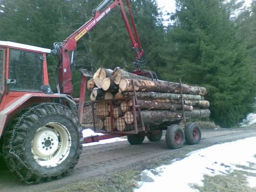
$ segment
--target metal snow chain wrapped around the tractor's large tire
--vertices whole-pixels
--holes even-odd
[[[78,132],[80,133],[80,141],[79,141],[79,146],[78,146],[78,149],[77,149],[77,155],[76,155],[75,161],[73,161],[73,162],[70,164],[70,166],[68,166],[67,168],[65,168],[61,173],[52,174],[52,175],[49,175],[49,176],[47,176],[47,177],[41,177],[41,176],[39,176],[36,172],[34,172],[34,171],[20,158],[20,156],[23,155],[22,152],[20,152],[20,153],[15,153],[15,148],[18,148],[18,146],[22,146],[22,150],[24,150],[24,147],[23,147],[23,146],[24,146],[24,141],[25,141],[25,140],[23,141],[23,144],[19,144],[19,145],[17,145],[17,146],[13,146],[12,144],[13,144],[13,141],[14,141],[14,136],[15,136],[15,134],[17,134],[17,131],[16,131],[16,130],[17,130],[17,128],[18,128],[20,122],[23,121],[23,117],[25,117],[26,115],[28,115],[28,114],[31,113],[31,112],[33,112],[33,113],[35,113],[36,115],[38,115],[39,113],[35,110],[35,109],[37,109],[37,108],[44,108],[44,109],[46,110],[46,112],[47,112],[47,115],[50,115],[51,112],[49,111],[49,108],[47,108],[47,106],[52,106],[52,107],[54,107],[54,109],[55,109],[55,114],[64,116],[63,114],[57,113],[57,112],[58,112],[57,106],[62,107],[62,108],[64,108],[64,112],[65,112],[65,116],[64,116],[64,117],[69,118],[70,120],[72,120],[72,122],[73,122],[73,119],[76,120]],[[6,161],[6,164],[8,165],[8,167],[10,168],[10,170],[11,170],[12,172],[15,172],[15,173],[18,175],[18,177],[19,177],[22,181],[24,181],[26,184],[31,185],[31,184],[43,182],[43,181],[44,181],[43,179],[49,180],[49,179],[51,179],[51,178],[58,178],[58,176],[62,175],[63,173],[66,173],[66,174],[63,174],[63,175],[68,175],[68,174],[70,174],[70,169],[73,168],[73,167],[75,166],[75,164],[78,162],[79,156],[80,156],[80,154],[82,153],[82,143],[83,143],[82,128],[81,128],[80,123],[79,123],[78,120],[77,120],[77,117],[74,115],[73,112],[72,112],[72,118],[70,118],[68,115],[66,115],[66,114],[67,114],[67,110],[70,110],[70,108],[68,108],[68,107],[66,107],[66,106],[62,106],[62,105],[57,104],[57,103],[41,103],[41,104],[36,105],[36,106],[34,106],[34,107],[28,108],[28,110],[26,110],[26,112],[23,113],[23,114],[22,114],[22,112],[24,112],[24,111],[22,111],[22,112],[20,113],[20,114],[22,114],[22,116],[19,116],[18,118],[15,118],[15,119],[10,123],[11,126],[15,123],[15,126],[14,126],[13,129],[12,129],[11,126],[8,128],[8,129],[12,129],[11,131],[8,131],[9,133],[10,133],[10,132],[12,133],[12,135],[11,135],[11,137],[10,137],[10,142],[9,142],[9,144],[6,145],[6,146],[3,145],[3,153],[4,153],[4,155],[6,156],[5,161]],[[36,112],[35,112],[35,111],[36,111]],[[19,114],[19,115],[20,115],[20,114]],[[39,114],[38,117],[42,117],[42,115]],[[17,121],[17,122],[15,122],[15,121]],[[14,123],[13,123],[13,122],[14,122]],[[26,122],[25,122],[25,123],[26,123]],[[35,124],[35,123],[37,123],[37,121],[34,122],[33,124]],[[29,124],[29,126],[32,126],[33,124]],[[8,132],[7,132],[7,133],[8,133]],[[23,134],[22,136],[24,136],[24,134]],[[5,134],[4,140],[6,140],[6,139],[7,139],[7,138],[6,138],[6,134]],[[4,141],[4,144],[5,144],[5,142],[6,142],[6,141]],[[6,152],[6,150],[4,150],[4,149],[9,149],[9,151],[8,151],[9,153]],[[8,159],[8,160],[7,160],[7,159]],[[19,165],[18,163],[15,163],[15,162],[14,162],[14,159],[16,159],[16,160],[20,163],[20,165],[24,166],[24,168],[26,168],[26,169],[29,171],[29,174],[26,174],[26,176],[22,175],[22,174],[19,172],[19,169],[20,169],[19,167],[20,167],[20,165]],[[28,180],[31,178],[32,175],[37,175],[38,179],[37,179],[36,181],[28,181]]]

